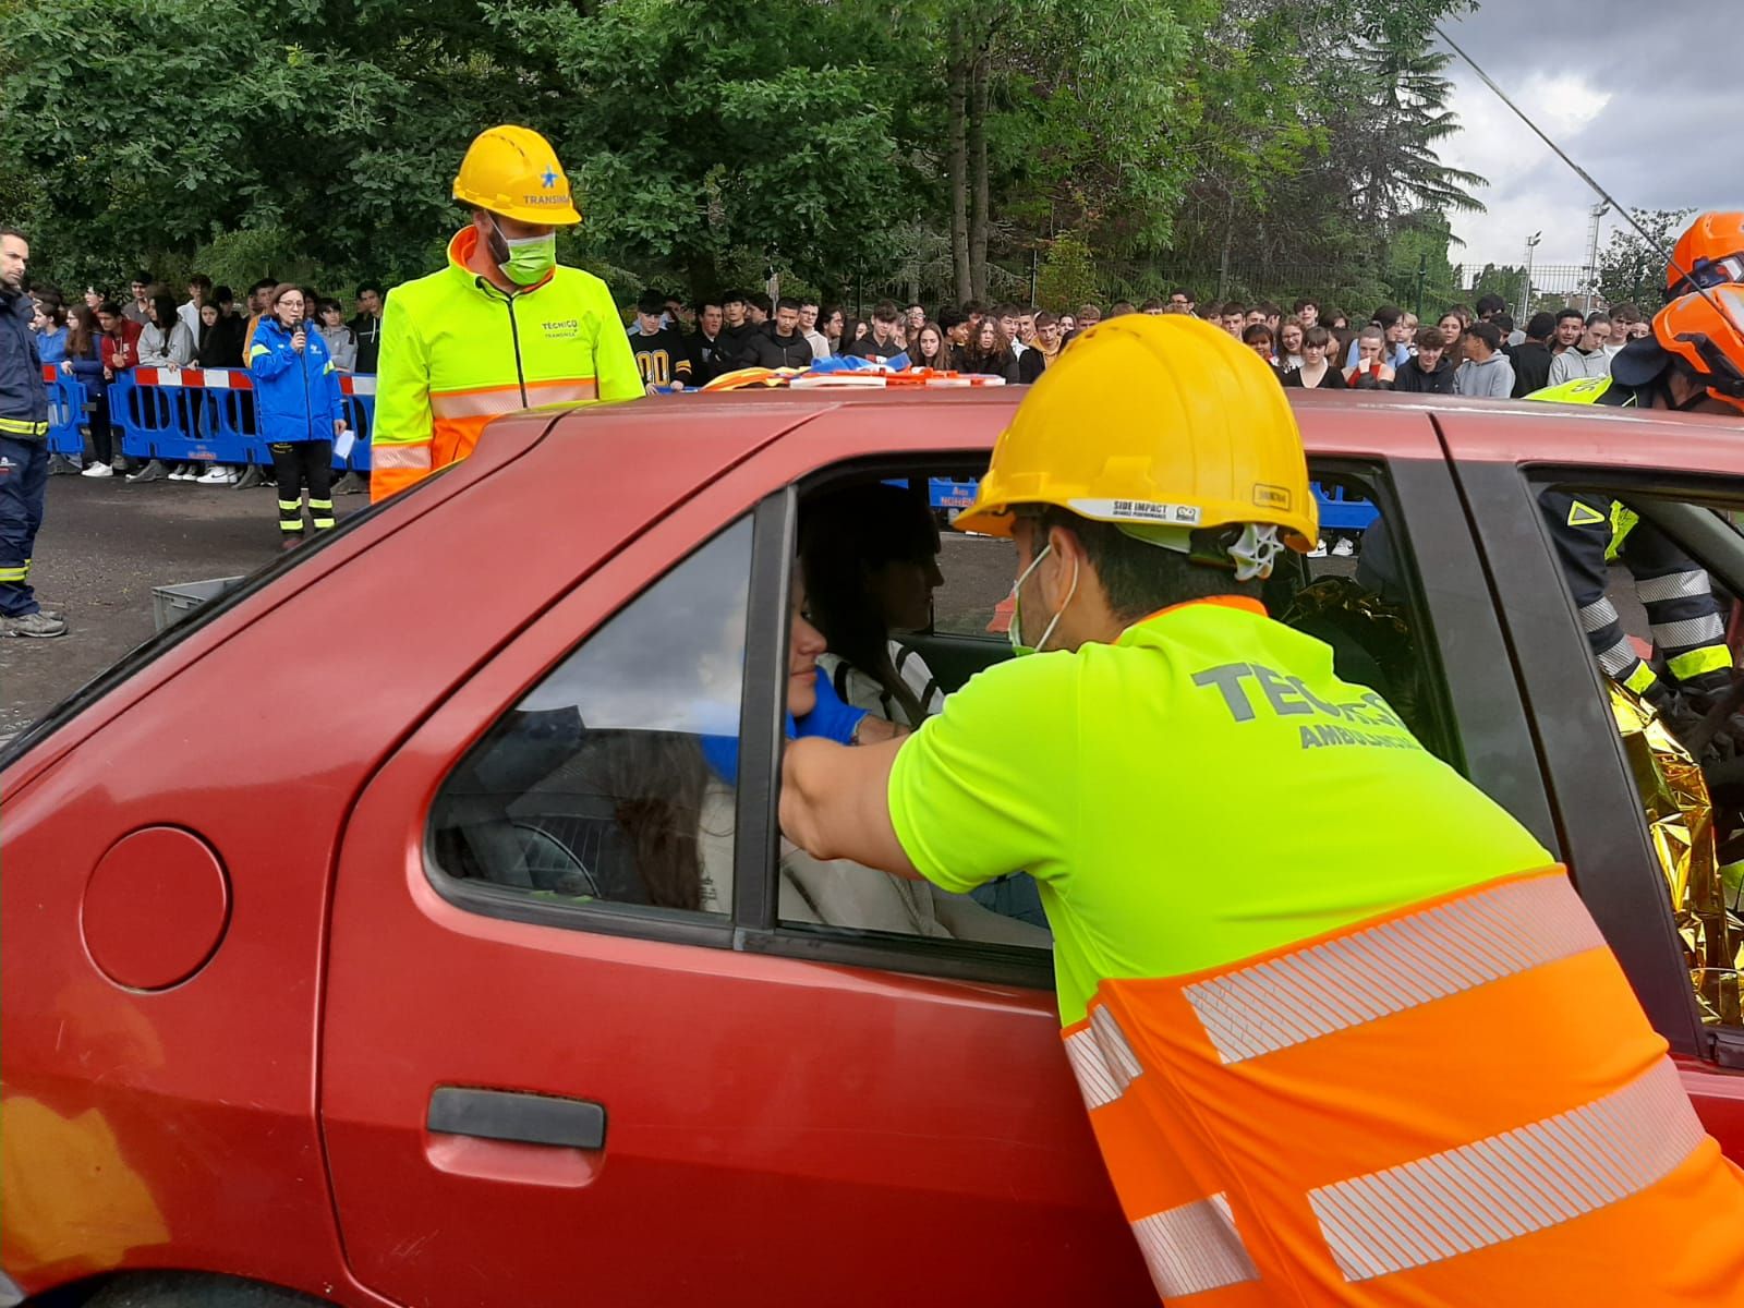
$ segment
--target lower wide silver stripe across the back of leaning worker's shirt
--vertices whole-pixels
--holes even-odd
[[[1345,1280],[1441,1263],[1636,1195],[1704,1139],[1669,1060],[1584,1107],[1308,1191]]]

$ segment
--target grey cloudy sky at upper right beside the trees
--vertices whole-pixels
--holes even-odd
[[[1686,0],[1484,0],[1448,31],[1618,202],[1737,209],[1744,82],[1730,42],[1713,38],[1714,12]],[[1448,73],[1463,131],[1442,160],[1489,180],[1477,192],[1488,211],[1453,218],[1467,242],[1454,263],[1519,263],[1536,230],[1536,263],[1585,263],[1592,192],[1458,58]],[[1707,167],[1692,126],[1714,133]],[[1611,225],[1599,227],[1601,249]]]

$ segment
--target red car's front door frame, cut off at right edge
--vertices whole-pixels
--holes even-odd
[[[1679,544],[1718,589],[1744,595],[1744,541],[1713,514],[1688,513],[1744,509],[1744,441],[1735,424],[1693,419],[1573,408],[1535,419],[1449,412],[1439,424],[1509,630],[1582,898],[1678,1057],[1704,1123],[1732,1158],[1744,1158],[1744,1031],[1700,1018],[1641,795],[1538,511],[1549,487],[1591,488],[1643,514],[1672,509],[1667,530],[1690,534]],[[1618,586],[1632,591],[1627,574],[1613,569]]]

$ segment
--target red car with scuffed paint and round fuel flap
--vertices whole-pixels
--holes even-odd
[[[1535,506],[1622,495],[1744,593],[1711,511],[1744,506],[1741,433],[1294,401],[1407,589],[1402,644],[1341,661],[1568,862],[1744,1158],[1737,977],[1704,1022]],[[1155,1303],[1048,950],[790,912],[774,825],[799,513],[973,476],[1015,403],[506,419],[14,741],[0,1299]],[[947,689],[1008,654],[1008,549],[945,542],[912,644]],[[1334,565],[1296,558],[1273,610]],[[673,851],[703,891],[654,884]]]

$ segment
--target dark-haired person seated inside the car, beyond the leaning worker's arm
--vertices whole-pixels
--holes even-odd
[[[945,696],[921,656],[891,638],[933,621],[938,527],[926,501],[882,483],[806,506],[800,537],[807,619],[828,652],[818,671],[835,696],[886,722],[917,727]]]

